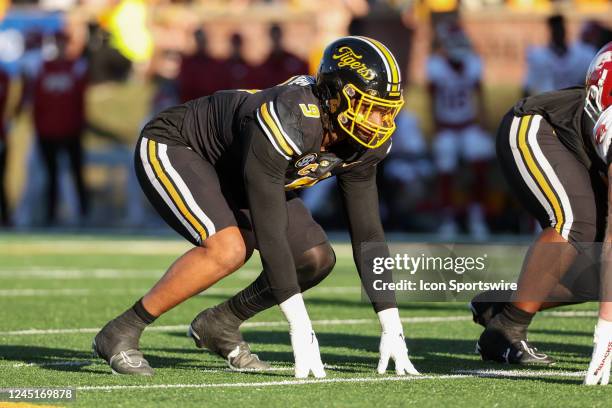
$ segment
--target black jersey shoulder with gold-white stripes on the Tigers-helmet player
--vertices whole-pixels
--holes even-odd
[[[319,102],[306,87],[287,87],[264,102],[256,115],[274,149],[287,160],[312,147],[323,131]]]

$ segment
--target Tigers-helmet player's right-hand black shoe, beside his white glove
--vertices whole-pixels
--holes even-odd
[[[196,347],[208,350],[227,360],[233,370],[269,370],[240,334],[240,323],[226,303],[206,309],[189,325],[187,335]]]

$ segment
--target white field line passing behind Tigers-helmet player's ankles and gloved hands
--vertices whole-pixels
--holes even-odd
[[[431,323],[431,322],[452,322],[470,320],[470,316],[424,316],[424,317],[405,317],[402,320],[404,323]],[[334,319],[334,320],[314,320],[314,326],[334,326],[343,324],[375,324],[378,320],[375,319]],[[279,327],[287,326],[287,322],[279,320],[275,322],[246,322],[241,327]],[[100,328],[81,328],[81,329],[26,329],[2,331],[0,336],[27,336],[34,334],[74,334],[74,333],[97,333]],[[148,327],[147,331],[156,332],[172,332],[187,330],[187,325],[174,326],[152,326]]]

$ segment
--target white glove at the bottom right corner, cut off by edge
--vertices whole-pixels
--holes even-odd
[[[586,385],[606,385],[610,381],[612,363],[612,322],[599,319],[593,335],[593,355],[587,375]]]

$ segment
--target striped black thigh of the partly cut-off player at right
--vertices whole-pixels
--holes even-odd
[[[553,227],[573,244],[595,239],[598,211],[589,172],[542,116],[507,114],[497,157],[512,192],[543,228]]]

